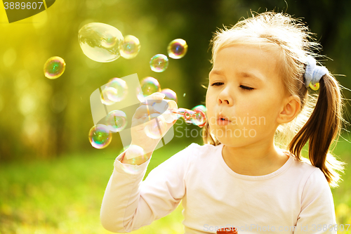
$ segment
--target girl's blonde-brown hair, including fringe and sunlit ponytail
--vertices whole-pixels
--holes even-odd
[[[265,12],[252,15],[237,22],[228,29],[224,27],[214,35],[212,60],[216,60],[218,51],[226,46],[258,45],[261,48],[274,49],[279,56],[279,73],[284,85],[284,93],[300,98],[300,112],[293,121],[278,126],[274,138],[280,147],[293,153],[300,161],[306,161],[300,152],[309,141],[310,164],[319,167],[331,187],[338,186],[344,162],[336,160],[329,148],[340,136],[342,101],[340,84],[332,74],[326,74],[319,82],[319,95],[310,91],[304,84],[305,58],[317,57],[314,49],[318,43],[310,40],[312,33],[299,19],[293,19],[286,13]],[[208,123],[204,126],[204,143],[219,145],[216,136],[211,134]]]

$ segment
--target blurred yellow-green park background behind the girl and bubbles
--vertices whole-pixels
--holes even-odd
[[[151,76],[162,89],[176,91],[178,107],[204,104],[206,89],[201,85],[207,85],[211,70],[213,32],[248,18],[251,10],[275,9],[307,22],[323,46],[321,54],[330,58],[322,63],[350,89],[350,6],[347,0],[57,0],[44,12],[9,24],[0,4],[0,233],[108,233],[98,212],[112,162],[123,147],[114,134],[107,148],[97,150],[88,131],[93,126],[90,95],[111,78]],[[103,22],[138,37],[140,53],[112,63],[90,60],[78,43],[78,31],[88,22]],[[187,41],[187,55],[170,59],[165,72],[152,72],[150,58],[166,54],[176,38]],[[65,73],[54,80],[43,72],[52,56],[66,62]],[[344,89],[343,95],[350,98],[351,92]],[[350,110],[347,103],[345,107]],[[336,154],[348,162],[347,131],[343,138]],[[192,142],[201,143],[201,138],[176,134],[154,153],[148,171]],[[340,188],[332,190],[337,221],[351,223],[347,171],[343,178]],[[180,210],[138,232],[182,233]]]

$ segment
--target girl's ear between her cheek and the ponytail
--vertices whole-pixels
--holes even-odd
[[[287,97],[282,104],[282,110],[277,117],[278,124],[291,122],[300,112],[300,98],[296,95]]]

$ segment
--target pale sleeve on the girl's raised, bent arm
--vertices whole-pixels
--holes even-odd
[[[102,199],[102,226],[129,233],[171,213],[185,195],[185,176],[193,145],[189,145],[143,177],[149,160],[140,165],[122,164],[119,155]]]

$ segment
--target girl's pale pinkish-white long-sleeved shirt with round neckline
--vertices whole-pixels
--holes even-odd
[[[150,171],[147,162],[122,164],[102,200],[102,226],[127,233],[170,214],[183,199],[185,233],[336,233],[333,196],[322,171],[289,155],[264,176],[237,174],[222,156],[223,145],[192,143]]]

